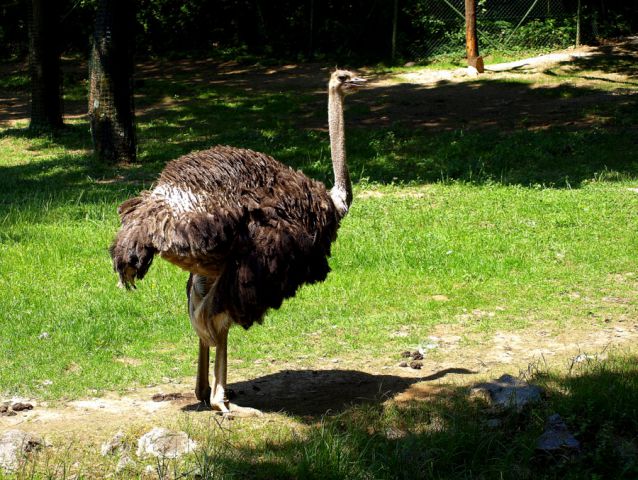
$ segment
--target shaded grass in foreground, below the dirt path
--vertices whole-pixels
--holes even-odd
[[[228,422],[207,417],[198,422],[184,417],[173,426],[198,442],[193,454],[138,461],[115,477],[137,477],[150,463],[160,478],[635,478],[636,360],[629,352],[614,352],[608,359],[578,364],[569,373],[534,365],[526,379],[543,388],[544,398],[520,412],[493,410],[470,396],[468,387],[439,385],[419,400],[379,399],[310,425],[284,418]],[[547,418],[555,413],[580,442],[578,451],[548,454],[536,449]],[[135,437],[127,435],[132,448]],[[56,457],[44,451],[17,478],[71,478],[78,473],[81,478],[102,478],[114,471],[118,460],[92,457],[71,465],[70,453]]]

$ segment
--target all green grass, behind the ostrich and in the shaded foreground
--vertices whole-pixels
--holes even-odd
[[[582,65],[580,73],[603,67],[616,65]],[[514,85],[532,100],[554,95],[557,109],[610,91],[604,81],[563,80],[546,79],[569,95],[544,86],[527,91],[533,85],[516,79],[440,88],[457,95],[478,89],[487,98]],[[231,331],[231,381],[330,358],[393,365],[442,324],[480,338],[539,324],[596,328],[636,315],[633,97],[583,104],[575,116],[588,119],[587,129],[551,121],[535,128],[523,113],[511,128],[357,121],[372,115],[370,98],[408,88],[416,87],[379,87],[350,104],[356,198],[334,245],[333,272],[270,312],[263,326]],[[2,397],[74,399],[193,375],[186,275],[157,261],[137,291],[124,292],[107,254],[117,205],[148,187],[171,158],[216,143],[242,145],[330,182],[327,134],[316,128],[324,122],[322,94],[213,86],[186,76],[147,78],[138,94],[140,163],[129,167],[95,163],[83,120],[51,136],[31,136],[25,125],[0,130]],[[80,98],[81,87],[71,97]],[[405,326],[407,336],[394,335]],[[255,372],[256,361],[269,360],[278,364]],[[502,418],[495,431],[484,424],[491,414],[458,386],[442,386],[426,402],[379,399],[325,418],[181,425],[207,447],[157,470],[199,468],[202,478],[538,478],[537,469],[545,478],[633,478],[636,378],[629,354],[568,374],[539,369],[533,379],[547,400]],[[554,411],[585,444],[575,460],[548,463],[534,452]],[[41,457],[37,471],[18,477],[70,475],[62,466],[100,477],[115,468],[110,461],[72,468],[75,459],[63,454]],[[131,467],[121,478],[141,470]]]

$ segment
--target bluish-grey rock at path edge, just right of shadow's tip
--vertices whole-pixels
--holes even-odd
[[[481,398],[497,409],[515,408],[520,412],[527,404],[539,401],[541,392],[536,385],[505,374],[498,380],[475,385],[470,397]]]

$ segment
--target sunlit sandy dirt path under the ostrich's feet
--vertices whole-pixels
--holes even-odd
[[[598,321],[596,321],[598,322]],[[398,335],[401,332],[397,332]],[[426,349],[423,368],[399,366],[400,353],[373,360],[362,368],[359,360],[317,363],[316,369],[256,367],[254,377],[241,377],[231,370],[234,402],[258,408],[273,421],[295,415],[316,421],[326,412],[339,412],[360,402],[405,401],[431,395],[431,386],[472,385],[503,373],[519,375],[533,368],[558,368],[590,358],[604,359],[610,351],[632,350],[638,340],[638,319],[614,323],[591,323],[578,330],[552,332],[534,329],[496,332],[488,338],[462,337],[461,326],[441,326]],[[181,415],[204,420],[212,413],[202,410],[193,392],[193,378],[140,388],[127,395],[114,393],[100,398],[46,403],[30,399],[32,410],[0,417],[0,431],[18,428],[52,438],[82,438],[99,444],[118,430],[142,431],[172,423]],[[168,394],[165,401],[155,401]]]

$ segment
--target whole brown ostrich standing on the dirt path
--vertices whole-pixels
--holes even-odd
[[[195,394],[213,410],[226,414],[231,408],[230,326],[261,323],[269,308],[279,308],[302,284],[324,280],[330,270],[330,245],[352,202],[343,99],[364,81],[336,70],[328,83],[330,193],[264,153],[216,146],[169,162],[152,190],[118,208],[121,228],[109,251],[120,286],[134,288],[156,254],[190,272],[188,312],[199,337]]]

